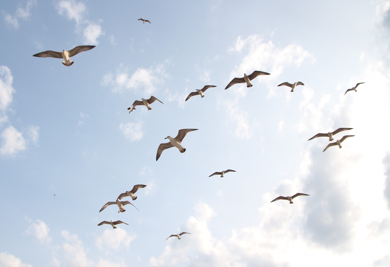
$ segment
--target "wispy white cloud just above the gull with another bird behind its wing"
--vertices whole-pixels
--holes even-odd
[[[157,90],[158,85],[163,84],[165,79],[170,77],[165,67],[168,62],[155,64],[147,69],[138,68],[130,77],[128,70],[121,64],[117,69],[115,77],[112,73],[107,73],[103,77],[101,84],[112,86],[115,92],[128,89],[145,95],[152,94]]]

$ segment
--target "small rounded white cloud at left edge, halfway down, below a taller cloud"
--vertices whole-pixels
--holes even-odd
[[[19,151],[26,149],[26,140],[22,134],[14,128],[14,126],[8,126],[2,132],[3,138],[2,146],[0,147],[0,153],[2,155],[16,155]]]

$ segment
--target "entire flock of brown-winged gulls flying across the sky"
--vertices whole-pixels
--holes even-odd
[[[143,18],[140,18],[138,20],[143,21],[143,23],[145,23],[145,22],[151,23],[149,20],[145,20]],[[94,47],[95,47],[94,45],[80,45],[80,46],[74,47],[73,49],[71,49],[69,51],[66,51],[65,49],[62,52],[56,52],[56,51],[52,51],[52,50],[47,50],[47,51],[44,51],[44,52],[36,53],[33,56],[34,57],[53,57],[53,58],[58,58],[58,59],[64,59],[64,61],[62,61],[62,64],[64,64],[65,66],[69,67],[69,66],[72,66],[73,63],[74,63],[70,59],[71,57],[77,55],[78,53],[81,53],[81,52],[84,52],[84,51],[89,51],[89,50],[91,50]],[[258,71],[258,70],[253,71],[252,74],[250,74],[250,75],[246,75],[246,73],[244,73],[244,77],[233,78],[229,82],[229,84],[225,87],[225,90],[228,89],[229,87],[231,87],[234,84],[240,84],[240,83],[246,83],[246,87],[252,87],[253,85],[251,84],[251,81],[254,78],[256,78],[256,77],[258,77],[260,75],[270,75],[270,73],[264,72],[264,71]],[[348,89],[344,93],[344,95],[348,91],[354,90],[356,92],[356,87],[358,87],[358,85],[360,85],[360,84],[364,84],[364,82],[358,83],[353,88]],[[284,82],[282,84],[279,84],[278,86],[288,86],[288,87],[291,87],[291,92],[294,92],[294,89],[298,85],[304,85],[304,84],[303,84],[303,82],[295,82],[293,84],[290,84],[289,82]],[[207,89],[212,88],[212,87],[216,87],[216,85],[205,85],[202,89],[195,89],[196,91],[195,92],[191,92],[187,96],[185,101],[189,100],[192,96],[197,96],[197,95],[200,95],[200,97],[203,98],[204,97],[204,92]],[[144,105],[144,106],[147,107],[148,110],[151,110],[150,105],[154,101],[159,101],[160,103],[164,104],[162,101],[160,101],[159,99],[157,99],[154,96],[151,96],[149,99],[141,98],[141,101],[135,100],[133,105],[131,105],[131,107],[128,108],[129,113],[131,111],[135,110],[135,107],[138,106],[138,105]],[[314,135],[312,138],[310,138],[308,140],[312,140],[312,139],[317,138],[317,137],[329,137],[329,141],[333,141],[333,135],[335,135],[335,134],[337,134],[339,132],[342,132],[342,131],[352,130],[352,129],[353,128],[338,128],[337,130],[335,130],[333,132],[317,133],[316,135]],[[158,146],[157,154],[156,154],[156,161],[160,158],[161,153],[164,150],[168,149],[168,148],[176,147],[180,151],[180,153],[184,153],[186,151],[186,149],[181,145],[181,142],[183,141],[183,139],[184,139],[184,137],[186,136],[187,133],[192,132],[192,131],[196,131],[196,130],[198,130],[198,129],[181,129],[181,130],[179,130],[179,132],[177,133],[175,138],[173,138],[171,136],[165,137],[165,139],[168,139],[169,142],[161,143],[160,146]],[[328,144],[328,146],[326,146],[326,148],[323,150],[323,152],[325,150],[327,150],[331,146],[336,146],[337,145],[337,146],[339,146],[339,148],[341,148],[341,142],[343,142],[346,138],[353,137],[353,136],[355,136],[355,135],[344,135],[340,140],[336,140],[336,142]],[[209,177],[211,177],[213,175],[221,175],[221,177],[223,177],[224,174],[229,173],[229,172],[236,172],[236,171],[234,171],[232,169],[227,169],[226,171],[215,172],[215,173],[211,174]],[[103,211],[106,207],[108,207],[110,205],[117,205],[118,208],[119,208],[118,213],[119,212],[121,212],[121,213],[125,212],[126,211],[124,209],[125,205],[128,205],[128,204],[130,204],[132,206],[134,206],[134,205],[130,201],[121,201],[121,199],[129,196],[129,197],[131,197],[132,200],[136,200],[137,196],[135,196],[135,193],[137,192],[138,189],[144,188],[144,187],[146,187],[146,185],[134,185],[133,189],[131,189],[130,191],[126,191],[126,192],[120,194],[117,197],[116,201],[109,201],[109,202],[107,202],[99,210],[99,212]],[[54,196],[55,196],[55,194],[54,194]],[[284,199],[284,200],[288,200],[290,204],[293,204],[293,199],[296,198],[297,196],[309,196],[309,195],[308,194],[303,194],[303,193],[297,193],[294,196],[287,196],[287,197],[279,196],[279,197],[275,198],[274,200],[272,200],[271,202],[274,202],[274,201],[277,201],[277,200],[280,200],[280,199]],[[134,207],[138,210],[138,208],[136,206],[134,206]],[[116,227],[117,224],[127,224],[127,223],[123,222],[123,221],[119,221],[119,220],[118,221],[110,220],[110,221],[102,221],[102,222],[100,222],[97,225],[101,226],[103,224],[110,224],[115,229],[115,228],[117,228]],[[167,239],[169,239],[170,237],[177,237],[178,239],[181,239],[181,235],[183,235],[183,234],[190,234],[190,233],[182,232],[182,233],[180,233],[178,235],[170,235]]]

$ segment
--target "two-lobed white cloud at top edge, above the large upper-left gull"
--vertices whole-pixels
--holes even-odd
[[[83,34],[84,41],[96,45],[97,38],[104,34],[101,26],[85,18],[87,7],[75,0],[61,0],[56,5],[58,14],[66,16],[68,20],[76,21],[76,31]]]

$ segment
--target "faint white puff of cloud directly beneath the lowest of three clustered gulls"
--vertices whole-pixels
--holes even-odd
[[[116,229],[104,230],[103,233],[96,237],[95,245],[99,249],[109,248],[115,250],[118,250],[122,246],[129,247],[130,242],[135,239],[135,235],[129,235],[126,230],[120,228],[122,225],[126,226],[126,224],[119,224],[119,227]],[[105,226],[112,228],[111,225]]]

